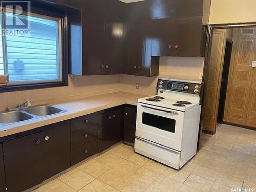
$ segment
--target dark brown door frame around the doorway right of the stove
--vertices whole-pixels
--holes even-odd
[[[203,83],[203,92],[201,95],[201,103],[202,103],[202,109],[201,109],[201,119],[200,119],[200,130],[204,133],[214,135],[216,133],[216,130],[214,132],[204,131],[203,130],[203,107],[204,107],[204,92],[205,88],[207,87],[207,80],[208,80],[208,74],[207,71],[209,69],[209,63],[210,63],[210,54],[211,54],[211,43],[212,43],[212,35],[214,33],[214,29],[227,29],[227,28],[245,28],[245,27],[256,27],[256,22],[250,22],[250,23],[229,23],[229,24],[212,24],[212,25],[204,25],[203,27],[206,28],[206,43],[205,43],[205,55],[204,55],[204,68],[203,68],[203,77],[202,77],[202,83]],[[227,122],[225,122],[228,124]],[[237,124],[231,124],[234,126],[238,126]],[[239,125],[241,127],[241,125]],[[253,127],[244,126],[246,129],[253,129]],[[200,131],[200,132],[201,132]],[[199,132],[199,134],[200,134]]]

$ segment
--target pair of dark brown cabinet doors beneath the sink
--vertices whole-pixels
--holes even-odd
[[[8,191],[23,191],[70,167],[70,124],[3,143]]]

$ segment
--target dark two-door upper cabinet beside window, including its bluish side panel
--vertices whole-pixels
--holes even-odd
[[[121,74],[123,23],[97,13],[70,12],[70,63],[74,75]]]

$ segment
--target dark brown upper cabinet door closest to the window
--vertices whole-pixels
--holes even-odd
[[[104,16],[82,11],[82,69],[83,75],[104,74]]]

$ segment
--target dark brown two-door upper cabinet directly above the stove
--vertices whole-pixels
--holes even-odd
[[[202,16],[156,19],[151,21],[155,39],[152,55],[200,57],[202,48]]]

